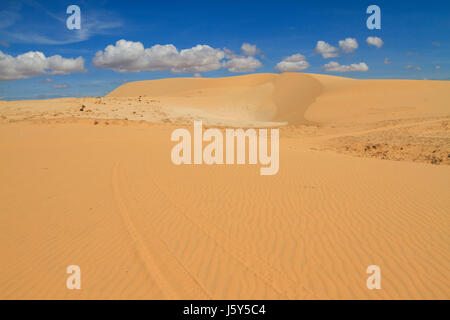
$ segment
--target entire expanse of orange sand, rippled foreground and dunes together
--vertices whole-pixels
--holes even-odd
[[[448,299],[449,86],[252,75],[1,102],[0,297]],[[279,173],[173,165],[197,117],[288,122]]]

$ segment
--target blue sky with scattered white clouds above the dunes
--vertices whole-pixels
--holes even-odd
[[[67,27],[70,5],[80,29]],[[367,27],[370,5],[381,29]],[[0,99],[285,71],[450,80],[449,13],[448,0],[2,0]]]

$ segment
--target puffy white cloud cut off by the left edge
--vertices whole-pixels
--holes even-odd
[[[69,74],[84,71],[84,59],[46,57],[42,52],[29,51],[10,56],[0,51],[0,81],[26,79],[41,74]]]

